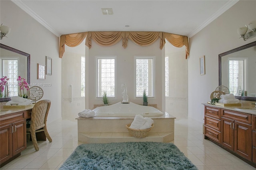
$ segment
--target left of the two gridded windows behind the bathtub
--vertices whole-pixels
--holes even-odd
[[[115,97],[116,57],[97,57],[97,97]]]

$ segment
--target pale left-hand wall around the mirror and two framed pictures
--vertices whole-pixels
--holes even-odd
[[[48,123],[61,118],[61,59],[59,38],[39,24],[11,1],[0,1],[0,21],[11,28],[8,38],[0,43],[30,54],[30,83],[51,83],[43,86],[44,97],[52,101]],[[45,65],[46,57],[52,58],[52,75],[37,79],[37,63]]]

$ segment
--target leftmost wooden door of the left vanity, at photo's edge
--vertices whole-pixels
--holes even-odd
[[[0,163],[12,158],[12,124],[0,127]]]

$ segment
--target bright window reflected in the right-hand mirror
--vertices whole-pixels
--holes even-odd
[[[229,59],[229,91],[241,95],[244,90],[244,59]]]

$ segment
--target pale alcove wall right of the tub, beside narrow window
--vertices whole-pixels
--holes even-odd
[[[170,45],[166,43],[165,46]],[[167,47],[166,47],[167,48]],[[167,50],[166,50],[167,51]],[[186,48],[172,47],[169,57],[169,97],[166,97],[166,112],[178,119],[188,118],[188,60]]]

